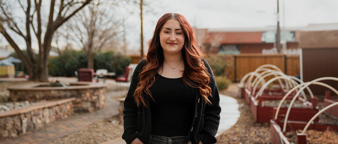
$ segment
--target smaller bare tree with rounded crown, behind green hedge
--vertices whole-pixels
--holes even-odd
[[[82,48],[88,57],[88,68],[94,69],[95,53],[114,43],[119,24],[108,16],[107,3],[95,1],[77,13],[67,24],[70,37]]]

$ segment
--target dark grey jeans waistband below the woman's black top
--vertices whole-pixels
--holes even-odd
[[[162,137],[150,135],[150,144],[185,144],[187,136]]]

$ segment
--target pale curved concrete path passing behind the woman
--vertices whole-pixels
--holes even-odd
[[[225,132],[227,129],[231,128],[238,120],[240,116],[240,111],[238,110],[238,103],[235,98],[226,95],[219,95],[219,105],[222,108],[221,119],[218,127],[216,137]],[[116,138],[101,144],[126,144],[122,138]]]

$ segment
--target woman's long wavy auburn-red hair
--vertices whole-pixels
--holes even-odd
[[[185,84],[198,88],[199,93],[203,96],[207,104],[211,104],[208,99],[211,95],[211,88],[208,86],[210,81],[210,74],[204,66],[201,53],[197,45],[197,40],[194,35],[194,30],[188,23],[185,17],[178,13],[164,14],[156,24],[152,39],[149,41],[148,53],[145,57],[146,64],[140,73],[140,82],[134,92],[134,98],[139,106],[141,103],[146,105],[144,95],[148,94],[151,98],[149,88],[155,82],[155,75],[160,68],[163,67],[164,55],[163,48],[160,43],[160,31],[165,22],[169,19],[176,19],[179,21],[184,34],[185,42],[182,49],[182,56],[184,60],[183,81]]]

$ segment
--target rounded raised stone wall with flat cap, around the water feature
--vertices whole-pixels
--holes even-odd
[[[73,86],[69,88],[8,88],[10,101],[37,102],[75,97],[73,102],[76,113],[92,112],[104,107],[105,85]]]

